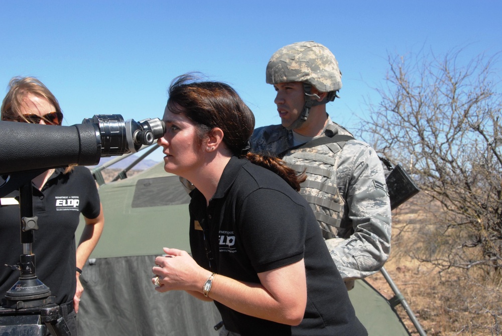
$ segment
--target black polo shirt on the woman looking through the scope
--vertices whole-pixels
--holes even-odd
[[[195,189],[190,202],[190,247],[196,262],[230,278],[260,283],[257,273],[302,258],[307,307],[291,327],[214,302],[225,327],[242,335],[366,335],[305,199],[275,173],[232,157],[206,207]]]

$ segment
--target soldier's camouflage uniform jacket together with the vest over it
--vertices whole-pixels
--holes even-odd
[[[330,119],[326,128],[351,136]],[[281,125],[256,129],[250,142],[254,153],[287,151],[283,160],[290,167],[306,169],[300,193],[314,210],[344,280],[380,270],[390,253],[391,206],[382,164],[368,144],[349,140],[291,150],[293,133]]]

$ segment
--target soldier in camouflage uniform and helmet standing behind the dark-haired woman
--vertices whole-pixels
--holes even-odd
[[[379,271],[390,253],[391,206],[380,159],[353,138],[297,148],[319,137],[351,136],[326,113],[342,83],[338,62],[325,46],[311,41],[279,49],[268,63],[267,83],[277,91],[281,125],[256,129],[252,151],[305,171],[301,193],[350,289],[351,280]]]

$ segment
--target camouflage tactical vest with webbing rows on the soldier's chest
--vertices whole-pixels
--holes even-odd
[[[348,135],[333,135],[327,129],[323,137],[288,150],[283,156],[289,167],[307,177],[300,193],[314,211],[324,239],[337,238],[341,229],[345,199],[337,185],[336,167],[340,151],[352,139]],[[348,229],[341,230],[344,236]]]

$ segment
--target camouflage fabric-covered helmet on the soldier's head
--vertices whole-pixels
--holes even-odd
[[[267,83],[304,82],[321,92],[342,87],[342,73],[328,48],[314,41],[297,42],[282,47],[267,65]]]

